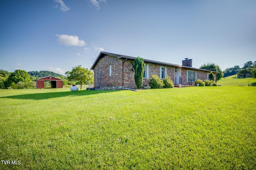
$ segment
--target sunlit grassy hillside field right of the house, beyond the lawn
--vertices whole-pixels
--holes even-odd
[[[222,86],[248,86],[256,83],[256,78],[235,78],[237,75],[228,76],[220,79],[217,84]]]

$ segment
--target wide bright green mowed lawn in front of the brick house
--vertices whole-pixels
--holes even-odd
[[[0,169],[255,169],[256,87],[0,90]]]

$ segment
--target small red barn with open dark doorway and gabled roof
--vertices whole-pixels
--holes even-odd
[[[62,88],[62,79],[53,76],[38,78],[36,80],[36,88],[44,88],[44,82],[50,81],[52,88]]]

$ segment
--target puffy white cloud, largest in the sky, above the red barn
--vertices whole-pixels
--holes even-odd
[[[81,39],[79,40],[79,37],[76,35],[56,35],[57,37],[59,37],[58,41],[61,44],[64,44],[66,46],[78,46],[78,47],[82,47],[84,45],[86,45],[86,43]]]

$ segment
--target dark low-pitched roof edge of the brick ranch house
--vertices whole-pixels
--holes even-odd
[[[102,59],[103,57],[105,57],[106,55],[112,55],[112,56],[118,57],[118,59],[127,59],[127,60],[131,60],[131,61],[134,61],[136,59],[136,57],[130,57],[130,56],[126,56],[126,55],[107,53],[107,52],[100,52],[100,54],[98,55],[96,61],[92,64],[92,67],[90,68],[90,70],[94,70],[94,67],[99,62],[99,60]],[[148,60],[148,59],[144,59],[144,63],[159,64],[159,65],[164,65],[164,66],[172,66],[174,68],[186,68],[186,69],[190,69],[190,70],[198,70],[198,71],[207,71],[207,72],[218,73],[216,71],[210,71],[210,70],[205,70],[205,69],[200,69],[200,68],[182,66],[182,65],[177,65],[177,64],[164,63],[164,62],[153,61],[153,60]]]

